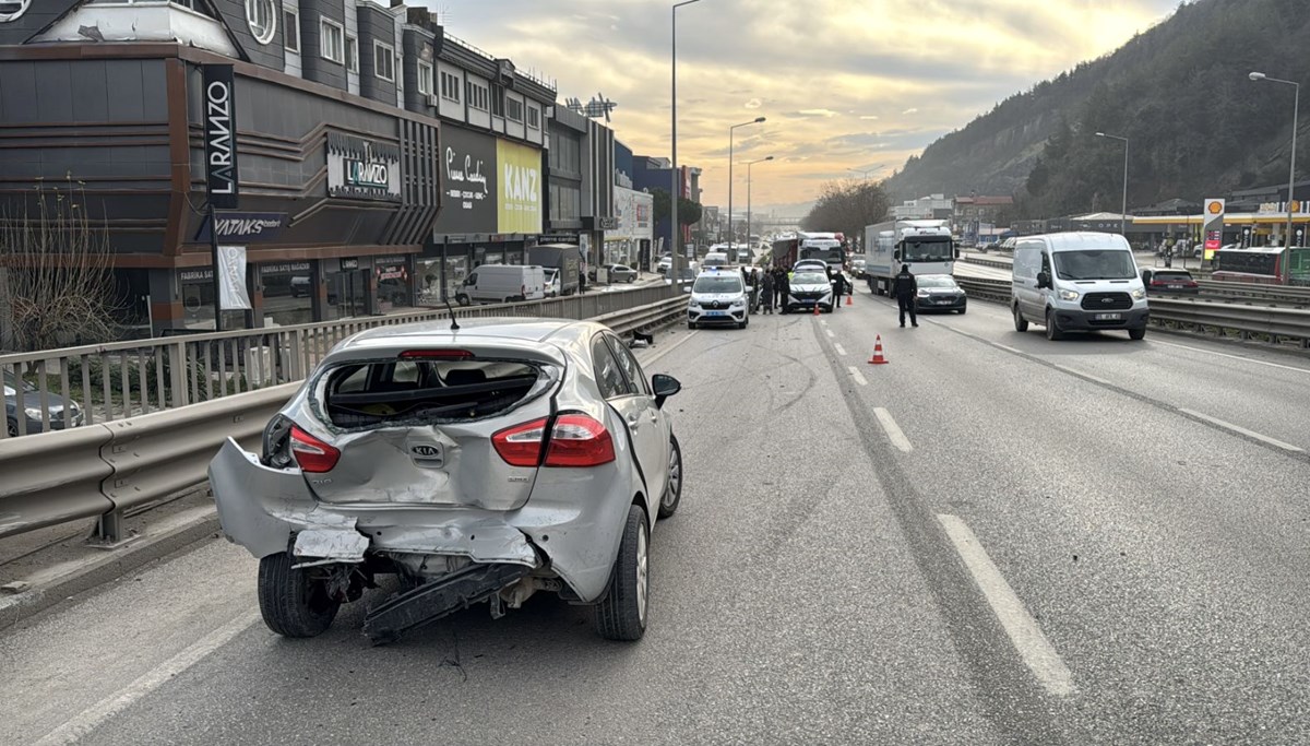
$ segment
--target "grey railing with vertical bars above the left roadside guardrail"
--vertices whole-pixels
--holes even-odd
[[[456,307],[457,317],[595,319],[675,296],[659,283],[527,303]],[[35,387],[8,437],[114,422],[303,379],[337,342],[375,326],[447,319],[445,309],[234,332],[208,332],[0,355],[0,374]],[[10,379],[12,380],[12,379]],[[35,406],[33,401],[35,400]],[[69,406],[75,405],[75,406]]]

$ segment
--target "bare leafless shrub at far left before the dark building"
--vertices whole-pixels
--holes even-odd
[[[39,181],[0,214],[8,316],[21,350],[114,337],[109,231],[93,224],[85,197],[84,184],[71,176],[54,186]]]

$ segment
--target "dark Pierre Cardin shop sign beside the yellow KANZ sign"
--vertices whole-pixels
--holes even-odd
[[[441,127],[441,212],[435,233],[495,232],[495,138]]]

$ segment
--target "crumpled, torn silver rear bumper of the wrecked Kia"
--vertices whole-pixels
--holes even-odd
[[[569,469],[561,469],[567,472]],[[593,475],[607,479],[605,475]],[[558,479],[567,479],[563,473]],[[609,475],[609,479],[616,479]],[[314,553],[360,561],[368,553],[419,553],[468,557],[478,564],[514,564],[550,569],[578,599],[604,594],[629,501],[608,500],[613,490],[559,489],[567,500],[537,496],[511,511],[456,506],[355,503],[329,505],[313,498],[299,469],[274,469],[231,438],[210,463],[210,484],[219,522],[229,540],[255,557],[293,547],[309,532]],[[565,485],[566,486],[566,485]],[[588,498],[587,496],[599,496]]]

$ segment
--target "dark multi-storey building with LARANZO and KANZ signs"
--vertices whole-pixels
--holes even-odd
[[[73,186],[107,235],[128,323],[214,324],[206,66],[232,69],[240,194],[217,233],[245,249],[252,305],[225,325],[435,302],[473,264],[521,261],[541,233],[553,87],[423,10],[371,0],[0,10],[0,203],[20,215],[37,185]]]

